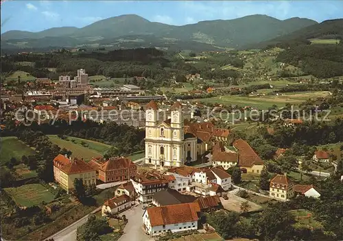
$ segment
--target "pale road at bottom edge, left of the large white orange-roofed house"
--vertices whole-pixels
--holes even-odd
[[[143,225],[143,212],[142,205],[137,205],[130,210],[122,212],[120,215],[125,214],[128,218],[128,223],[124,227],[123,236],[119,238],[119,241],[150,241],[154,240],[150,236],[147,236],[142,228]]]

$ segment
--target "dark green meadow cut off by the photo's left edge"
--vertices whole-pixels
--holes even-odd
[[[16,160],[21,160],[23,155],[36,155],[36,151],[27,147],[14,136],[1,138],[1,165],[10,161],[12,157],[16,158]]]

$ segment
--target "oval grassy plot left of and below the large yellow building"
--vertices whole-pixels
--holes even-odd
[[[39,205],[42,201],[49,203],[54,200],[54,194],[38,183],[27,184],[18,188],[5,188],[5,192],[23,207],[32,207],[33,205]]]

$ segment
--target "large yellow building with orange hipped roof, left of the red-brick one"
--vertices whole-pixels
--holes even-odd
[[[58,154],[54,158],[54,178],[69,193],[74,188],[74,180],[82,179],[84,185],[96,184],[95,170],[83,160],[70,160]]]

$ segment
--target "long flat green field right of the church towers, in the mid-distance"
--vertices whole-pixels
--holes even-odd
[[[243,97],[237,95],[223,95],[221,97],[212,97],[206,99],[195,99],[194,101],[201,101],[204,103],[221,103],[224,105],[241,105],[251,106],[259,110],[268,110],[268,107],[277,105],[278,107],[285,106],[286,103],[298,105],[303,103],[307,99],[326,97],[328,92],[297,92],[297,93],[285,93],[284,95],[265,95],[263,97]]]

